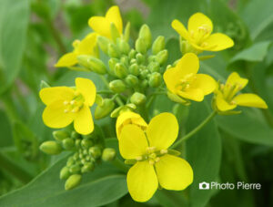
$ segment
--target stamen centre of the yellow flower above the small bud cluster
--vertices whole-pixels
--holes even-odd
[[[72,99],[64,101],[64,105],[66,106],[64,112],[76,113],[83,108],[84,102],[85,98],[83,97],[83,95],[80,94],[78,91],[75,91],[74,97]]]

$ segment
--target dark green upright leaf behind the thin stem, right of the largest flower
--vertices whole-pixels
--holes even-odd
[[[196,128],[201,121],[207,118],[209,114],[208,104],[206,102],[193,103],[189,114],[187,131]],[[217,181],[221,163],[221,139],[215,120],[208,122],[194,137],[187,140],[186,146],[186,160],[194,171],[194,181],[189,190],[190,206],[206,206],[214,191],[199,190],[199,183]]]

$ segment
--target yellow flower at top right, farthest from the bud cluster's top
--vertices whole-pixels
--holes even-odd
[[[215,33],[211,35],[213,24],[211,20],[202,13],[196,13],[190,16],[186,27],[175,19],[172,22],[172,27],[177,33],[198,50],[219,51],[233,47],[233,40],[222,34]]]

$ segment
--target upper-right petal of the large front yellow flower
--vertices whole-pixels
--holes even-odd
[[[177,118],[171,113],[161,113],[151,119],[147,126],[147,139],[150,147],[165,150],[171,146],[178,135]]]

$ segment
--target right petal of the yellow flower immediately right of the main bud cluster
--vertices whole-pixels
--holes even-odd
[[[215,90],[217,84],[214,78],[206,74],[197,74],[196,78],[191,87],[202,89],[204,95],[210,94]]]

